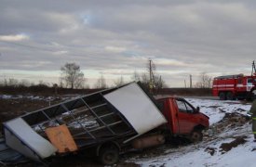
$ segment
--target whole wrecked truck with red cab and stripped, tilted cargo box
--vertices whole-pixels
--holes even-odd
[[[200,141],[208,127],[209,117],[185,99],[155,100],[140,83],[128,83],[4,122],[0,162],[25,157],[44,163],[83,151],[114,164],[120,151],[153,147],[168,137]]]

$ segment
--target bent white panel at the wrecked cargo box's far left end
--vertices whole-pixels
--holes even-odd
[[[40,159],[45,159],[57,151],[57,148],[47,139],[36,134],[21,118],[5,122],[5,132],[8,147],[35,161],[39,161],[38,156]]]

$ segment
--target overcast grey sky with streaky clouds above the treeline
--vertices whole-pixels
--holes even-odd
[[[146,70],[171,87],[250,74],[255,0],[0,0],[0,79],[59,81],[66,62],[93,84]]]

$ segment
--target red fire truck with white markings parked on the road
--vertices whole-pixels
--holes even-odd
[[[255,96],[256,76],[243,74],[215,77],[212,84],[212,95],[221,100],[245,99]]]

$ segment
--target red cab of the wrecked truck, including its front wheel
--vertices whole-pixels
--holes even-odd
[[[181,97],[157,99],[158,106],[168,120],[165,129],[170,135],[185,135],[191,141],[201,141],[202,130],[209,128],[209,117]]]

